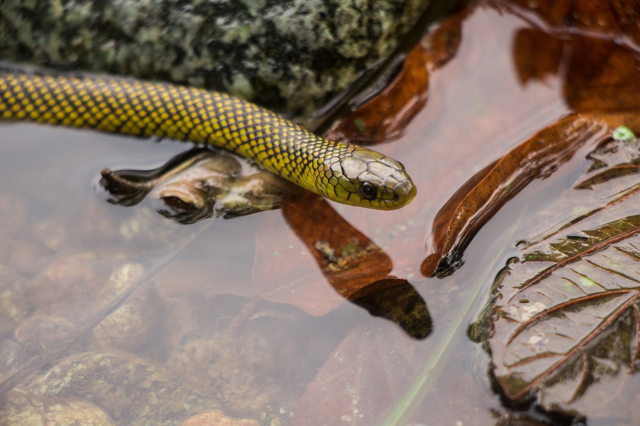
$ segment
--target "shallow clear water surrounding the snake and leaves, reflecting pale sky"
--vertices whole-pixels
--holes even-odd
[[[99,185],[102,169],[153,169],[188,145],[2,123],[0,272],[6,277],[3,303],[13,314],[3,314],[0,372],[20,369],[121,294],[128,281],[109,281],[114,271],[122,273],[127,265],[146,271],[163,265],[134,293],[129,314],[122,314],[119,322],[107,319],[63,353],[56,361],[63,367],[49,376],[42,376],[46,369],[35,372],[24,388],[47,397],[90,400],[116,424],[150,420],[179,425],[199,411],[220,409],[227,416],[271,426],[340,424],[315,423],[309,408],[314,401],[319,404],[314,398],[323,392],[330,400],[340,391],[344,395],[325,401],[323,410],[342,413],[348,407],[339,417],[341,424],[374,425],[388,418],[428,365],[408,424],[502,421],[500,416],[517,407],[505,406],[493,392],[487,375],[490,359],[481,345],[468,339],[467,326],[486,303],[498,271],[518,255],[515,243],[529,238],[527,230],[540,220],[541,206],[560,197],[563,188],[549,180],[533,181],[477,233],[463,265],[452,275],[424,278],[420,263],[433,218],[447,199],[476,172],[570,112],[561,79],[548,76],[520,84],[513,43],[517,31],[527,27],[510,13],[477,7],[463,21],[455,57],[430,73],[426,106],[401,137],[376,146],[402,162],[412,176],[418,195],[409,206],[374,211],[330,203],[388,255],[390,275],[407,278],[420,294],[433,325],[426,339],[413,339],[387,319],[335,298],[282,210],[180,225],[157,214],[148,200],[132,207],[106,201],[108,195]],[[579,176],[568,171],[555,178],[571,185]],[[271,252],[285,259],[277,267],[269,260]],[[291,294],[267,291],[278,285],[291,286],[291,293],[306,289],[330,301],[310,308]],[[240,337],[230,339],[228,327],[253,298],[263,300]],[[54,318],[68,324],[44,331],[36,326],[37,332],[31,333],[24,326],[29,320],[51,324]],[[16,331],[20,328],[22,334]],[[31,342],[34,339],[42,344]],[[189,402],[168,404],[163,411],[159,407],[175,400],[175,393],[151,398],[143,391],[148,386],[141,384],[146,376],[138,379],[131,373],[136,379],[116,383],[120,376],[105,379],[109,370],[100,376],[93,367],[74,370],[76,376],[66,388],[53,390],[46,384],[60,372],[67,374],[69,365],[100,365],[91,358],[99,353],[130,364],[141,358],[141,370],[166,369],[166,377],[176,379],[163,383],[189,395]],[[316,378],[312,383],[319,370],[324,382],[318,384]],[[91,383],[100,380],[110,387],[92,390]],[[143,406],[152,408],[145,413]],[[632,416],[605,410],[602,416],[589,413],[588,424],[623,424]],[[549,424],[531,422],[526,424]]]

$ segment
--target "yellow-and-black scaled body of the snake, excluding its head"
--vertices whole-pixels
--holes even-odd
[[[0,117],[208,143],[332,199],[330,162],[359,148],[224,93],[117,77],[0,70]]]

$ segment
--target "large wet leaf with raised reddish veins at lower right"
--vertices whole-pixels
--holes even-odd
[[[538,392],[547,407],[575,406],[591,384],[640,367],[640,215],[620,217],[639,208],[632,195],[500,273],[484,333],[509,399]]]

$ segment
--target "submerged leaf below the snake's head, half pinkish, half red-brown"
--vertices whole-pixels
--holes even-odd
[[[271,216],[256,234],[253,285],[261,298],[321,316],[347,299],[406,282],[388,276],[387,254],[322,197],[305,192],[285,201],[282,213],[294,232],[273,235],[273,221],[282,219]]]

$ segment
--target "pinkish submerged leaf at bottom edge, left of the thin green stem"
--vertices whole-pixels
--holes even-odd
[[[307,386],[292,426],[369,426],[420,370],[424,349],[386,324],[360,324]]]

